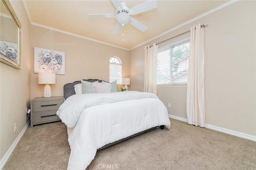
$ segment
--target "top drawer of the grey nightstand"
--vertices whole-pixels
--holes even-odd
[[[58,110],[63,100],[46,100],[46,101],[34,101],[34,112],[44,110]]]

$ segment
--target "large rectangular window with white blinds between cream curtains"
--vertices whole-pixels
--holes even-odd
[[[158,49],[157,84],[187,84],[189,39]]]

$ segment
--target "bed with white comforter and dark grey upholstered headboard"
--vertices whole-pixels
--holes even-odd
[[[78,92],[80,84],[93,90]],[[98,87],[108,86],[109,92]],[[164,104],[151,93],[112,91],[114,82],[98,79],[75,81],[64,85],[64,103],[57,115],[68,129],[70,158],[68,170],[84,170],[94,159],[96,151],[148,130],[170,128]],[[98,91],[97,91],[98,90]],[[84,91],[83,91],[84,92]]]

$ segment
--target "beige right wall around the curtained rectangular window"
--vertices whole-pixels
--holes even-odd
[[[144,46],[174,36],[182,39],[177,35],[205,22],[208,22],[204,29],[206,123],[255,136],[255,1],[236,2],[131,50],[130,90],[143,90]],[[159,86],[157,90],[166,106],[172,104],[169,114],[186,118],[186,87]]]

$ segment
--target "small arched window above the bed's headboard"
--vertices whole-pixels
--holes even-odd
[[[114,82],[116,84],[121,84],[122,78],[122,63],[117,57],[111,57],[109,60],[109,82]]]

